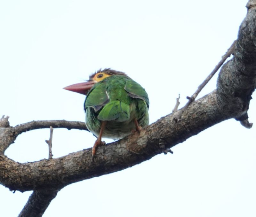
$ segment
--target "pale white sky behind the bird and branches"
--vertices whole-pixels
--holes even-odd
[[[247,0],[1,1],[0,115],[84,121],[84,96],[62,88],[99,68],[126,72],[148,92],[150,123],[181,106],[237,38]],[[216,88],[216,78],[200,96]],[[253,95],[255,97],[255,94]],[[249,118],[256,122],[256,101]],[[256,123],[255,123],[256,124]],[[48,157],[48,129],[22,134],[5,154]],[[55,129],[53,154],[92,147],[79,130]],[[108,140],[111,141],[111,140]],[[255,126],[235,120],[206,129],[121,172],[62,189],[49,216],[256,216]],[[0,186],[1,216],[17,216],[31,192]]]

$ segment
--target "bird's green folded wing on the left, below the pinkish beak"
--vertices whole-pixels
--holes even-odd
[[[106,82],[96,83],[92,89],[87,93],[87,97],[84,102],[84,110],[88,107],[92,107],[95,112],[99,111],[109,101],[107,94]]]

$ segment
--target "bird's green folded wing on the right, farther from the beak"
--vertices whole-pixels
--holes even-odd
[[[133,81],[132,79],[129,79],[126,81],[124,89],[129,93],[130,97],[143,99],[149,108],[148,94],[145,89],[140,86],[140,84]]]

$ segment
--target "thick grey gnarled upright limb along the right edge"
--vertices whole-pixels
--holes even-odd
[[[224,114],[245,124],[252,92],[256,87],[256,0],[247,4],[234,57],[222,68],[217,82],[218,105]],[[250,126],[248,122],[247,127]]]

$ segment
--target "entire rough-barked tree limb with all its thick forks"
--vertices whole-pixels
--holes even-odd
[[[8,118],[0,121],[0,183],[10,190],[34,190],[20,216],[41,216],[64,186],[103,174],[132,167],[167,148],[185,141],[223,120],[236,118],[250,128],[247,111],[256,87],[256,0],[247,3],[247,15],[242,22],[233,58],[221,69],[217,90],[193,102],[180,119],[175,113],[120,141],[101,146],[94,158],[91,149],[78,151],[56,159],[18,163],[4,155],[16,137],[28,130],[46,128],[86,127],[82,122],[32,121],[10,127]]]

